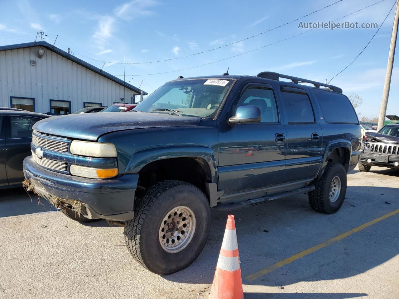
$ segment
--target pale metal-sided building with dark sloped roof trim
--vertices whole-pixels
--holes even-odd
[[[53,115],[146,92],[45,41],[0,47],[0,106]]]

